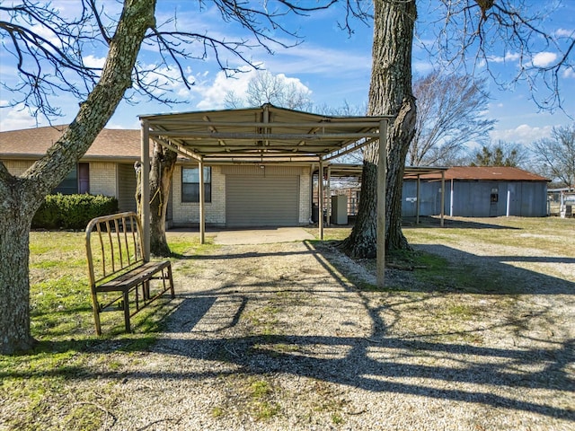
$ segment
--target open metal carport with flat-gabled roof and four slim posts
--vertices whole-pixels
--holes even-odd
[[[142,223],[149,257],[149,142],[199,164],[199,235],[205,241],[203,166],[209,163],[325,163],[379,140],[378,196],[385,196],[387,123],[390,116],[331,117],[269,103],[243,110],[142,115]],[[320,193],[323,184],[320,181]],[[377,199],[377,283],[384,286],[385,202]],[[320,207],[323,212],[323,203]],[[320,214],[322,214],[322,212]],[[323,239],[323,217],[319,222]],[[381,233],[381,234],[380,234]]]

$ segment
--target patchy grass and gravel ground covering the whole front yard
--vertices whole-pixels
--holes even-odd
[[[173,235],[178,298],[102,339],[82,235],[32,233],[0,429],[572,429],[575,220],[426,222],[384,292],[329,243]]]

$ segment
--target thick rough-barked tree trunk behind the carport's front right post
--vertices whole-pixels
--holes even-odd
[[[415,101],[411,92],[411,44],[417,17],[415,0],[374,0],[374,42],[368,115],[394,115],[388,129],[385,193],[385,246],[408,248],[402,233],[403,168],[415,133]],[[376,256],[378,144],[364,152],[358,218],[342,248],[361,258]]]

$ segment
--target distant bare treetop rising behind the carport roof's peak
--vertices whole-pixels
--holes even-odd
[[[264,103],[288,110],[309,110],[313,106],[311,92],[297,85],[286,75],[273,75],[267,70],[256,71],[248,81],[245,96],[235,92],[226,94],[226,108],[261,106]]]

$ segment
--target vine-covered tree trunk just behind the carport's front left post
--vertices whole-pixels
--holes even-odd
[[[150,166],[150,253],[155,256],[168,257],[171,254],[170,246],[165,236],[165,216],[170,198],[170,184],[172,182],[173,169],[176,165],[178,154],[164,148],[162,145],[154,145],[154,154]],[[137,172],[137,214],[142,216],[142,171],[139,164]]]

